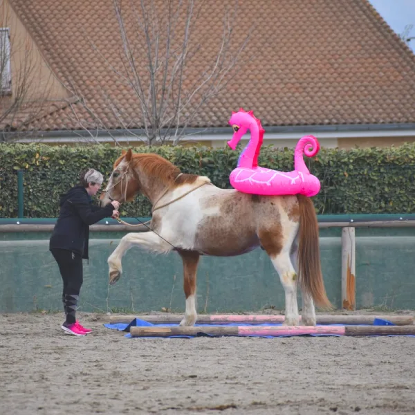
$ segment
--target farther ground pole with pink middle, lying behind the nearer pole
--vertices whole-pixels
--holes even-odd
[[[111,315],[109,323],[130,323],[136,318],[152,324],[178,324],[183,315]],[[397,326],[414,324],[413,315],[317,315],[317,324],[374,324],[376,318],[388,320]],[[228,323],[278,324],[282,322],[284,322],[284,315],[199,315],[197,319],[198,324],[216,325]]]

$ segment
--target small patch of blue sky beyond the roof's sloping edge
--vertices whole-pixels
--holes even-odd
[[[369,0],[380,16],[396,34],[401,35],[405,26],[412,24],[408,37],[414,37],[407,45],[415,53],[415,0]]]

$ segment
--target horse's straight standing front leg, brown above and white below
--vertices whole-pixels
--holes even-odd
[[[193,326],[197,319],[196,313],[196,273],[199,264],[199,253],[194,251],[178,251],[183,260],[183,288],[186,296],[185,316],[181,326]]]

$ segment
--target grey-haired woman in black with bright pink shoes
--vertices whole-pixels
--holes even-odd
[[[105,208],[92,204],[91,196],[100,190],[103,180],[100,172],[88,169],[80,174],[80,185],[61,195],[59,217],[49,241],[49,250],[57,261],[64,282],[62,301],[66,321],[62,329],[73,335],[91,332],[91,329],[82,327],[75,317],[83,282],[82,258],[89,259],[89,225],[119,215],[118,201],[112,201]]]

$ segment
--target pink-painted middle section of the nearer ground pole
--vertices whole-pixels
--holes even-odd
[[[344,326],[239,326],[238,335],[306,335],[306,334],[326,334],[344,335]]]

